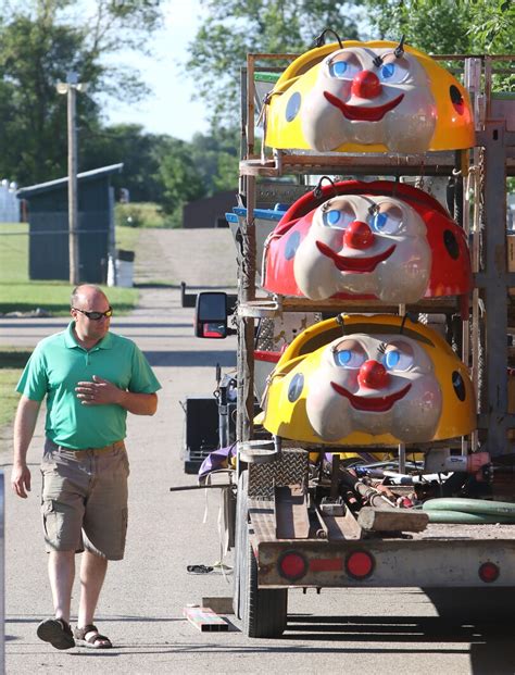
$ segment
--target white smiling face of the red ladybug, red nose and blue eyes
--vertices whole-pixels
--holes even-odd
[[[300,290],[314,300],[350,292],[416,302],[431,272],[426,225],[399,199],[337,197],[315,211],[293,272]]]

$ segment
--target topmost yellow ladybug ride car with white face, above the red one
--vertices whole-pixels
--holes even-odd
[[[470,102],[427,54],[388,41],[305,52],[265,110],[265,143],[318,152],[425,152],[474,146]]]

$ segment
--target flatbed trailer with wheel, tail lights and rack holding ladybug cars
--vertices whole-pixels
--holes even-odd
[[[367,513],[359,515],[349,508],[323,509],[317,497],[321,475],[315,475],[317,470],[309,460],[310,452],[316,449],[309,443],[280,447],[277,440],[275,443],[254,440],[256,320],[306,311],[405,313],[414,310],[445,316],[460,311],[455,298],[426,299],[406,308],[359,300],[314,302],[263,293],[255,279],[254,210],[256,180],[262,177],[372,174],[418,176],[422,182],[432,176],[449,176],[460,182],[465,189],[463,197],[456,192],[455,208],[462,226],[469,233],[474,290],[469,298],[469,321],[461,323],[457,332],[462,359],[469,364],[476,387],[478,411],[477,430],[469,437],[455,439],[455,447],[462,455],[480,448],[490,454],[493,463],[499,460],[513,467],[515,407],[508,402],[511,363],[506,336],[515,333],[513,296],[508,290],[515,288],[515,272],[507,267],[506,178],[515,175],[515,100],[492,95],[492,77],[500,70],[513,73],[514,57],[436,58],[452,62],[464,73],[476,114],[476,145],[469,150],[413,155],[336,152],[324,155],[274,150],[269,158],[259,157],[254,147],[254,75],[260,67],[269,71],[274,59],[288,57],[292,58],[291,54],[249,54],[241,79],[240,192],[244,197],[247,218],[239,233],[242,262],[237,307],[235,612],[250,637],[277,637],[287,624],[289,588],[420,587],[429,596],[445,589],[444,600],[452,601],[454,597],[459,602],[467,596],[477,597],[479,589],[487,589],[491,598],[507,597],[515,589],[512,525],[422,526],[422,511],[413,512],[410,523],[409,518],[395,522],[395,515],[391,514],[385,525],[381,514],[377,514],[380,509],[368,507]],[[335,447],[330,451],[338,453],[346,449]],[[402,466],[406,451],[409,448],[399,447]],[[337,471],[338,462],[332,475],[322,480],[325,480],[322,490],[325,495],[336,496],[331,483]],[[492,470],[488,476],[493,485],[493,499],[515,502],[515,473],[511,471]],[[402,489],[397,493],[402,497]],[[469,589],[474,589],[472,595]]]

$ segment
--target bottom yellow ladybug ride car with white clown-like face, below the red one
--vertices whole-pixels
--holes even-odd
[[[469,434],[467,368],[427,326],[342,315],[300,335],[271,378],[263,426],[312,443],[389,446]]]

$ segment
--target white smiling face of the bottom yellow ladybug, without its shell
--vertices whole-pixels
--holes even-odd
[[[306,383],[315,433],[336,441],[349,429],[392,434],[405,442],[432,438],[442,392],[428,355],[412,338],[355,334],[319,354]]]

